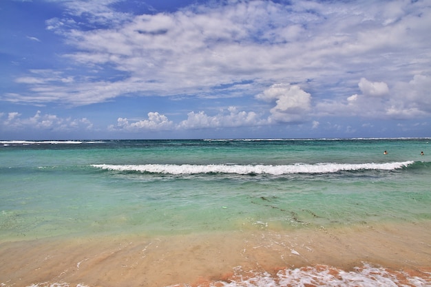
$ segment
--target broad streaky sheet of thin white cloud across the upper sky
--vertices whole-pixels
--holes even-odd
[[[385,75],[384,82],[361,82],[364,94],[378,96],[387,92],[389,81],[406,81],[412,70],[430,70],[431,43],[424,35],[431,25],[431,9],[424,1],[230,1],[143,15],[116,12],[115,2],[64,1],[70,17],[65,13],[63,19],[47,21],[48,29],[76,48],[67,58],[81,68],[109,66],[125,73],[117,81],[97,74],[91,80],[75,79],[74,85],[50,81],[52,91],[61,91],[61,102],[87,105],[129,93],[204,94],[243,80],[252,82],[246,87],[251,94],[273,83],[304,83],[310,78],[308,85],[314,90],[331,92],[331,85],[352,82],[355,73],[364,70],[364,79]],[[74,17],[82,19],[78,23]],[[92,28],[96,24],[97,29]],[[40,77],[22,76],[18,81],[49,81]],[[85,92],[90,87],[92,96]],[[353,94],[355,86],[344,89]],[[36,96],[41,102],[52,100],[52,93],[47,97],[45,91],[30,91],[31,103]]]

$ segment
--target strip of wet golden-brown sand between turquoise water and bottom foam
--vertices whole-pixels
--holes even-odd
[[[350,271],[362,262],[431,279],[431,222],[2,242],[0,286],[205,286],[233,280],[238,266]]]

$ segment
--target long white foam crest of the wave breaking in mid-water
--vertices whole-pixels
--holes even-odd
[[[335,173],[337,171],[357,171],[366,169],[395,170],[407,167],[413,161],[385,163],[316,163],[316,164],[92,164],[92,167],[111,171],[139,171],[164,174],[197,174],[197,173],[236,173],[236,174],[271,174],[292,173]]]

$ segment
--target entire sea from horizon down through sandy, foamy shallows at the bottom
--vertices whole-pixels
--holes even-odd
[[[0,141],[0,286],[431,286],[430,141]]]

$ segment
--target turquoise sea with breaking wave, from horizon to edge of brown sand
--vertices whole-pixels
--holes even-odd
[[[430,220],[429,141],[2,141],[0,240]]]

